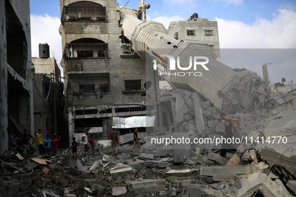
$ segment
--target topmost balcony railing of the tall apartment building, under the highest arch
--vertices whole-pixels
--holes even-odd
[[[107,21],[106,7],[64,6],[61,21]]]

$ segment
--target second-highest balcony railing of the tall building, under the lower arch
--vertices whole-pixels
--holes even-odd
[[[64,58],[106,58],[108,43],[103,44],[66,44],[63,52]]]

